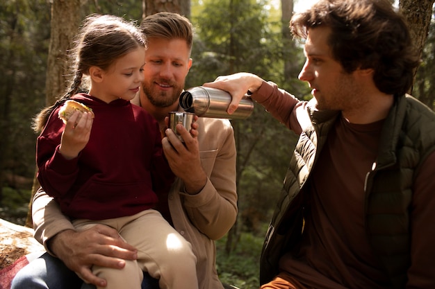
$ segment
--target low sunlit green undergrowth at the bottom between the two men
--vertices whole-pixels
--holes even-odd
[[[230,255],[225,254],[227,237],[217,240],[217,274],[223,283],[243,289],[258,289],[258,272],[263,237],[251,233],[240,235],[240,245]]]

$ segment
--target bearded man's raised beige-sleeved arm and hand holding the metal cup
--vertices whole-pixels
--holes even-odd
[[[236,145],[228,120],[204,118],[202,125],[205,127],[199,128],[198,138],[181,128],[186,146],[171,130],[162,143],[172,171],[183,181],[179,193],[190,222],[208,238],[217,240],[236,221]]]

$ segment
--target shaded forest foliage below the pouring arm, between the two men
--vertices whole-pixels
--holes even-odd
[[[247,121],[232,121],[238,151],[240,229],[264,234],[281,192],[297,136],[256,105]]]

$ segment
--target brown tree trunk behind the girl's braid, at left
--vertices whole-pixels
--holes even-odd
[[[81,0],[54,0],[51,5],[50,46],[47,59],[46,105],[52,105],[67,87],[67,51],[81,22]],[[36,175],[35,175],[36,176]],[[32,200],[40,184],[33,179],[32,198],[27,213],[26,226],[32,227]]]

